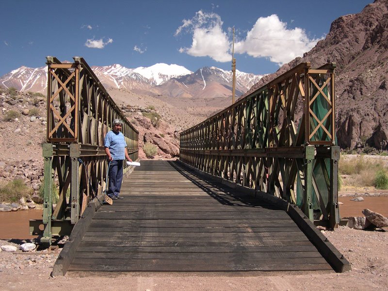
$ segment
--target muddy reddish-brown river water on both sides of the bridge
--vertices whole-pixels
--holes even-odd
[[[366,196],[365,201],[351,201],[354,197],[339,197],[341,217],[363,216],[361,211],[368,208],[388,217],[388,196]],[[0,239],[32,239],[29,235],[29,220],[42,219],[42,210],[0,212]]]

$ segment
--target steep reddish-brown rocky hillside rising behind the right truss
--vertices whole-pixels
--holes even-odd
[[[375,0],[358,14],[339,17],[324,40],[262,78],[248,93],[302,62],[312,67],[337,63],[339,146],[388,150],[388,0]]]

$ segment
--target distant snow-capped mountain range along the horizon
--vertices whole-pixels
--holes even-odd
[[[231,96],[232,74],[217,67],[204,67],[193,73],[180,65],[155,64],[131,69],[114,64],[92,66],[92,70],[107,89],[170,97]],[[245,93],[261,77],[236,70],[236,96]],[[22,66],[2,76],[0,84],[18,91],[46,93],[47,67]]]

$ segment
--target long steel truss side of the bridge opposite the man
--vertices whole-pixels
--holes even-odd
[[[302,63],[180,135],[180,160],[339,223],[334,69]]]

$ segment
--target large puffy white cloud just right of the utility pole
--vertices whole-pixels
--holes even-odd
[[[322,38],[321,38],[322,39]],[[236,53],[253,57],[268,57],[271,62],[283,65],[312,49],[320,39],[309,39],[301,28],[287,29],[287,23],[275,14],[260,17],[246,38],[235,43]]]

